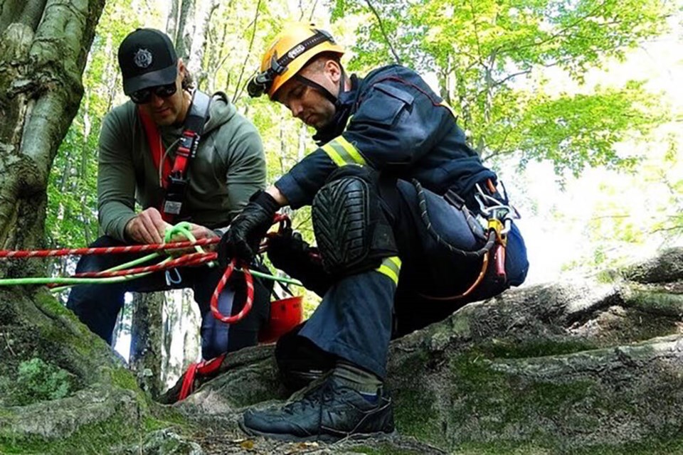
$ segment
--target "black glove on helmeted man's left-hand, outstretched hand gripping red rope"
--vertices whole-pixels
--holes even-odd
[[[235,217],[230,228],[218,244],[218,263],[227,267],[231,259],[237,258],[249,264],[258,245],[272,225],[272,218],[280,205],[270,194],[257,191],[249,198],[249,203]]]

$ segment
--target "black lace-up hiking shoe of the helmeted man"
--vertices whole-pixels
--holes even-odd
[[[292,395],[284,405],[246,411],[240,427],[248,434],[275,439],[332,442],[392,433],[393,409],[383,387],[376,401],[369,402],[329,375]]]

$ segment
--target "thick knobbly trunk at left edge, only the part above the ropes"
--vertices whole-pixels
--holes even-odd
[[[40,4],[2,4],[0,245],[6,249],[44,242],[48,173],[83,95],[81,75],[104,0]]]

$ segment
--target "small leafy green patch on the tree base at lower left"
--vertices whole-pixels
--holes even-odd
[[[16,381],[6,383],[11,404],[23,406],[43,400],[66,397],[71,389],[70,374],[41,358],[31,358],[18,365]]]

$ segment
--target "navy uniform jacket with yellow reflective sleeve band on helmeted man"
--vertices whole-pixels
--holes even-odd
[[[345,164],[417,178],[441,195],[453,188],[465,197],[475,183],[495,180],[465,144],[450,107],[413,70],[390,65],[351,82],[334,124],[314,136],[320,147],[275,182],[292,208],[309,205],[329,173]]]

